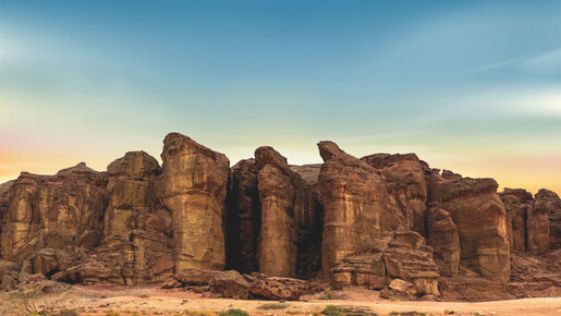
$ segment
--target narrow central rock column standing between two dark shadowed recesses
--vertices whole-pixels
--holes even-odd
[[[317,250],[310,233],[317,222],[318,196],[292,171],[271,147],[255,150],[258,191],[261,204],[261,228],[258,242],[259,271],[276,277],[296,277],[298,253]],[[304,240],[304,243],[298,243]],[[307,247],[303,250],[302,247]],[[298,250],[300,247],[300,250]],[[305,263],[310,264],[310,263]]]

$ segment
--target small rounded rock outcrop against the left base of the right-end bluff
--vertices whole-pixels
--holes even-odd
[[[458,274],[460,266],[460,236],[452,216],[443,210],[431,208],[427,219],[428,243],[435,251],[435,262],[444,277]]]

